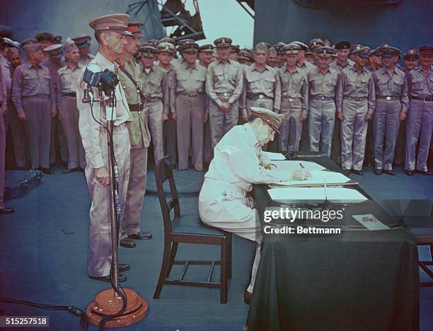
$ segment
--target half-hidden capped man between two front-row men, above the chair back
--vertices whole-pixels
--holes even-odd
[[[171,39],[171,38],[163,38]],[[174,40],[173,40],[174,41]],[[175,46],[171,42],[160,42],[156,47],[158,50],[158,62],[159,66],[164,69],[167,73],[168,79],[168,93],[171,95],[171,90],[173,89],[173,81],[171,79],[171,72],[174,69],[172,64],[173,57],[176,54]],[[171,100],[170,100],[171,102]],[[163,122],[163,137],[164,137],[164,151],[170,154],[171,165],[175,166],[178,163],[178,146],[176,143],[176,122],[173,120],[173,114],[164,118]],[[165,117],[165,116],[164,116]]]

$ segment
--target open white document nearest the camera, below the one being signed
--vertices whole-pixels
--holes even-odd
[[[345,187],[276,187],[267,192],[272,200],[284,200],[287,203],[325,199],[335,203],[359,203],[367,200],[364,194]]]

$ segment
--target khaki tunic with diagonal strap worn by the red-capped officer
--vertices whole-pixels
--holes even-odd
[[[123,57],[125,62],[125,69],[132,76],[132,78],[140,84],[141,73],[139,72],[139,66],[135,64],[134,59],[131,57],[127,59]],[[137,90],[135,84],[125,75],[122,70],[119,69],[119,83],[122,85],[123,91],[125,91],[126,100],[128,105],[139,105],[142,103],[142,97]],[[130,112],[129,120],[127,122],[129,142],[131,143],[131,149],[142,149],[149,147],[151,141],[151,135],[149,127],[146,123],[144,113]]]

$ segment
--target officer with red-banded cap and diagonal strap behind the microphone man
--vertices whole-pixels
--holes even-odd
[[[150,133],[142,111],[142,98],[139,90],[140,72],[133,57],[139,49],[140,38],[144,37],[140,31],[142,25],[142,23],[128,23],[128,31],[132,33],[132,36],[126,36],[127,43],[122,53],[124,66],[119,67],[119,81],[125,91],[130,112],[126,124],[131,143],[131,162],[125,214],[120,235],[120,245],[127,248],[135,247],[132,239],[152,238],[151,233],[142,232],[139,225],[146,192],[147,148],[150,144]]]

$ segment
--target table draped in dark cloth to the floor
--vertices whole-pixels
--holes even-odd
[[[328,157],[295,160],[340,171]],[[267,188],[253,187],[262,225],[265,208],[278,205]],[[346,229],[340,235],[263,234],[249,331],[419,329],[417,247],[410,233],[370,197],[345,207],[344,214],[339,223],[328,222]],[[368,231],[354,214],[374,214],[391,229]]]

